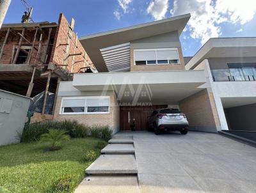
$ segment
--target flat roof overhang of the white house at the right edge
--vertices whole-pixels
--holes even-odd
[[[252,38],[211,38],[201,47],[186,65],[194,69],[207,58],[255,57],[256,37]]]

